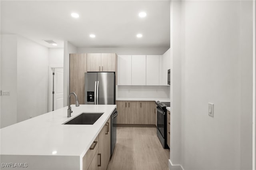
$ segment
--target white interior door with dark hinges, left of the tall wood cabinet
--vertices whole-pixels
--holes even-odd
[[[63,107],[63,68],[54,69],[54,110]]]

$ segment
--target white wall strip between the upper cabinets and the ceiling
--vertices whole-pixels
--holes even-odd
[[[78,53],[116,53],[117,55],[162,55],[169,47],[78,48]]]

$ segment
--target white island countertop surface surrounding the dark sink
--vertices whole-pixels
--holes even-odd
[[[0,129],[1,155],[83,157],[116,105],[71,105]],[[94,125],[62,125],[82,112],[104,113]]]

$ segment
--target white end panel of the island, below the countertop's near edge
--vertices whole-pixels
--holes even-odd
[[[0,163],[1,170],[80,170],[80,156],[0,155]]]

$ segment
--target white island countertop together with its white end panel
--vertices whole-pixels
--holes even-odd
[[[64,107],[0,129],[1,169],[82,170],[83,156],[116,105],[71,107],[69,118]],[[104,114],[93,125],[63,125],[82,112]],[[8,163],[13,168],[4,168]]]

